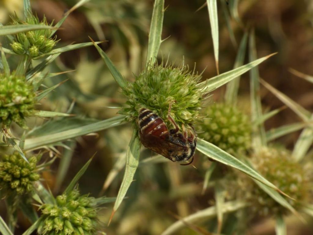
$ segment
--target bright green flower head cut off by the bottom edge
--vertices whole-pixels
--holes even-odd
[[[95,234],[98,221],[94,197],[80,196],[75,189],[57,196],[55,201],[40,206],[38,234]]]

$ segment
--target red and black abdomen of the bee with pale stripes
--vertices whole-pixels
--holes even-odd
[[[168,134],[167,126],[162,118],[146,108],[139,110],[138,125],[143,134],[152,134],[160,137]]]

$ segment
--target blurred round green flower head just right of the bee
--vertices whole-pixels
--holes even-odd
[[[203,115],[199,137],[235,156],[250,148],[250,119],[236,107],[215,103],[203,109]]]

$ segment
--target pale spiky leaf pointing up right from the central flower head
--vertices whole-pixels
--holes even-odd
[[[259,65],[262,63],[264,60],[267,60],[269,57],[275,55],[276,53],[273,53],[268,56],[264,56],[258,60],[254,60],[253,62],[250,62],[249,64],[240,66],[237,69],[230,70],[228,72],[222,73],[218,76],[215,76],[213,78],[210,78],[206,81],[198,83],[199,87],[203,87],[203,89],[206,89],[207,92],[214,91],[220,86],[223,86],[227,82],[233,80],[234,78],[244,74],[245,72],[249,71],[251,68],[254,66]]]

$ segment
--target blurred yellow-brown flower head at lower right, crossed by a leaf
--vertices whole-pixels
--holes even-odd
[[[285,199],[295,210],[299,210],[303,203],[309,203],[311,198],[312,169],[305,169],[294,162],[290,153],[285,149],[264,148],[252,157],[252,163],[258,172],[267,180],[285,192],[290,198]],[[235,193],[240,199],[251,203],[251,210],[260,216],[275,216],[287,214],[290,211],[266,194],[249,177],[241,175],[238,179]]]

